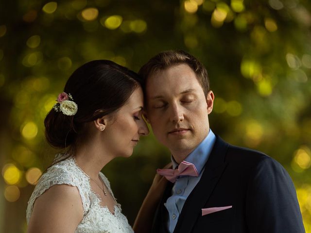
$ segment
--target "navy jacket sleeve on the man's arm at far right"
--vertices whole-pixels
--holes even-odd
[[[305,233],[291,177],[278,162],[263,157],[247,183],[246,218],[250,233]]]

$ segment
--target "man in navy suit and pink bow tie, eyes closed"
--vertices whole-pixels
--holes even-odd
[[[167,188],[155,233],[304,233],[294,184],[274,159],[232,146],[209,127],[214,94],[206,68],[184,51],[165,51],[139,74],[146,118],[172,153],[158,169]]]

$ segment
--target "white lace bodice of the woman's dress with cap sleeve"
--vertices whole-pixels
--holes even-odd
[[[55,160],[60,160],[64,154],[58,154]],[[113,196],[110,183],[102,172],[100,177]],[[103,207],[89,182],[89,177],[77,166],[73,156],[52,165],[39,179],[35,190],[28,201],[26,212],[27,223],[33,211],[36,198],[55,184],[69,184],[79,190],[84,215],[75,233],[134,233],[126,217],[121,213],[121,205],[114,206],[114,214]],[[113,196],[114,198],[114,196]]]

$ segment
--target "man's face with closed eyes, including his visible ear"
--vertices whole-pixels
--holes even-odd
[[[213,100],[211,91],[205,97],[187,64],[166,68],[147,79],[148,121],[155,137],[172,153],[190,153],[207,136]]]

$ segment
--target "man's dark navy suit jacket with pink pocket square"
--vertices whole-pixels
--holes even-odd
[[[168,183],[153,232],[167,233]],[[202,216],[203,208],[232,208]],[[219,136],[204,173],[187,198],[174,233],[305,233],[292,179],[276,160],[229,145]]]

